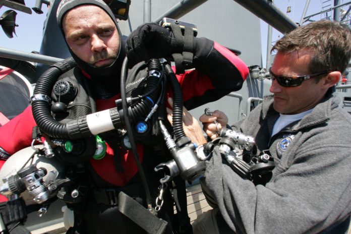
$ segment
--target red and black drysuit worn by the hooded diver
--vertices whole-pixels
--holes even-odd
[[[239,90],[248,75],[247,66],[231,51],[206,38],[197,38],[197,40],[198,48],[194,53],[193,63],[195,69],[177,75],[183,91],[184,106],[188,109],[215,101],[231,91]],[[74,100],[69,104],[68,109],[75,108],[76,104],[84,104],[92,112],[115,107],[114,101],[120,98],[120,93],[105,99],[97,98],[97,95],[94,94],[96,87],[91,82],[91,79],[87,75],[84,76],[83,74],[85,73],[78,67],[73,70],[66,75],[69,75],[71,80],[76,79],[78,86],[81,86],[78,87],[77,96],[80,97],[78,98],[80,99],[79,101],[87,101],[90,104],[76,103],[76,100]],[[135,82],[146,76],[145,66],[143,66],[143,63],[138,64],[128,74],[127,84]],[[131,78],[132,76],[133,78]],[[85,81],[81,82],[81,80]],[[86,92],[87,90],[88,92]],[[89,93],[89,90],[93,91]],[[80,94],[83,92],[84,94]],[[0,127],[0,147],[9,154],[13,154],[24,147],[30,146],[32,129],[35,125],[31,107],[29,106],[23,113],[16,116],[5,126]],[[99,160],[90,158],[89,162],[85,164],[90,175],[89,183],[93,187],[91,191],[101,192],[104,191],[103,189],[117,189],[118,191],[126,192],[133,198],[144,198],[144,191],[132,152],[119,145],[120,139],[113,136],[111,139],[108,139],[109,137],[111,136],[107,134],[106,139],[103,139],[107,142],[106,155]],[[153,168],[160,162],[168,159],[164,155],[156,153],[154,147],[150,145],[138,144],[137,149],[149,181],[149,186],[152,187],[150,191],[154,200],[157,196],[158,180],[160,178],[154,178]],[[118,152],[118,155],[115,152]],[[129,194],[129,188],[132,188],[131,191],[133,192],[131,194]],[[139,188],[137,192],[135,192],[135,188]],[[96,200],[96,197],[94,192],[88,193],[87,197],[88,202],[84,205],[84,211],[82,212],[84,214],[81,222],[81,228],[83,229],[80,230],[82,233],[108,233],[113,230],[119,230],[119,233],[124,233],[123,229],[125,229],[126,233],[138,231],[138,229],[133,229],[138,228],[133,227],[133,224],[127,225],[128,221],[124,217],[118,217],[116,215],[118,211],[113,206],[103,204],[103,202],[98,205],[95,204],[96,201],[94,200]],[[166,208],[171,212],[173,212],[172,204],[172,202],[169,202]],[[89,212],[89,209],[92,212]]]

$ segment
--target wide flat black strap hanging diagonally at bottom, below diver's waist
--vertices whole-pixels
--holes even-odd
[[[164,233],[167,226],[166,221],[157,218],[137,201],[123,192],[119,193],[118,200],[119,211],[142,227],[145,231],[154,234]]]

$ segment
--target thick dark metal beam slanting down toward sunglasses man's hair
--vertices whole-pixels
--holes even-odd
[[[268,0],[234,0],[257,17],[271,25],[279,32],[285,34],[298,27],[298,25]]]

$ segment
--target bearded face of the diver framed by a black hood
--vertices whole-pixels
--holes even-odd
[[[109,15],[94,5],[79,6],[63,18],[68,45],[81,60],[94,67],[108,67],[120,50],[120,36]]]

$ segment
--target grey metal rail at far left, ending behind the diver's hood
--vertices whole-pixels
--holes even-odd
[[[59,59],[57,57],[51,57],[37,53],[28,53],[19,50],[7,49],[4,47],[0,47],[0,57],[7,57],[8,59],[22,60],[47,65],[63,61],[63,59]]]

